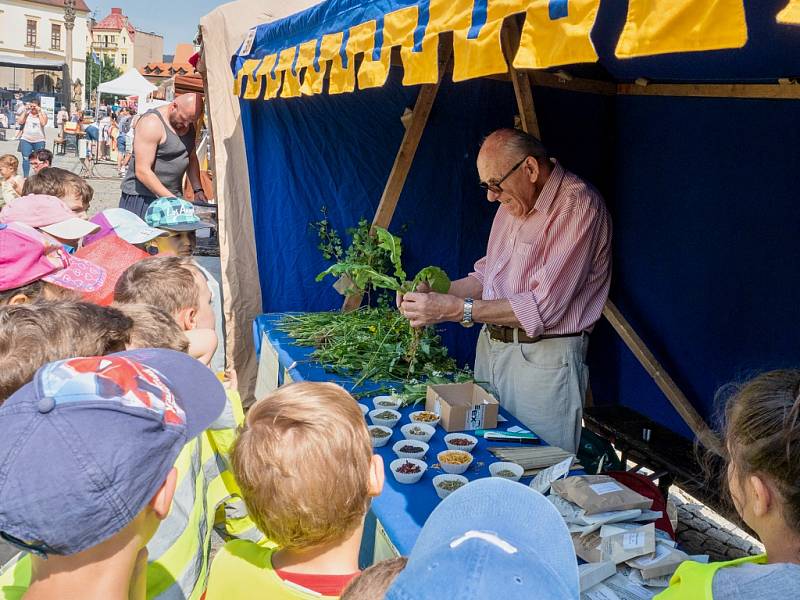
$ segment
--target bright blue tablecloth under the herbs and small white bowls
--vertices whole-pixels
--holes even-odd
[[[339,383],[347,390],[351,390],[354,383],[353,379],[325,371],[322,365],[310,358],[311,353],[314,351],[313,348],[294,345],[292,338],[276,329],[281,316],[281,314],[270,313],[256,318],[253,325],[253,333],[256,338],[257,352],[260,352],[263,335],[266,334],[269,343],[278,353],[281,367],[287,369],[293,381],[332,381]],[[353,391],[358,393],[369,389],[378,389],[385,387],[386,383],[366,382],[358,390]],[[391,384],[392,382],[388,383]],[[370,410],[376,408],[370,396],[362,398],[360,402],[366,404]],[[400,428],[411,422],[409,413],[414,410],[423,410],[424,408],[423,405],[419,405],[400,409],[400,413],[403,416],[394,426],[392,437],[385,446],[375,449],[376,453],[383,458],[385,464],[386,484],[383,488],[383,493],[373,500],[372,511],[395,548],[403,556],[407,556],[411,552],[422,525],[428,515],[441,502],[433,487],[432,480],[436,475],[441,475],[444,471],[431,468],[431,465],[437,462],[436,455],[447,449],[444,443],[444,436],[447,435],[447,432],[441,427],[436,427],[436,433],[429,442],[430,450],[425,460],[428,463],[428,470],[418,483],[410,485],[398,483],[389,470],[389,465],[397,458],[392,451],[392,446],[395,442],[403,439]],[[498,423],[498,429],[507,429],[514,425],[522,426],[519,421],[502,408],[500,409],[500,414],[507,421]],[[369,417],[367,417],[367,420],[369,421]],[[370,424],[372,423],[370,422]],[[489,477],[489,465],[498,460],[489,452],[489,447],[501,445],[509,444],[487,442],[480,438],[478,445],[472,451],[474,460],[467,472],[464,473],[464,476],[469,480]],[[514,444],[514,446],[520,447],[519,444]],[[578,473],[582,473],[582,471],[575,472],[575,474]],[[530,477],[523,478],[522,483],[528,483],[530,480]],[[365,534],[366,537],[367,534]]]

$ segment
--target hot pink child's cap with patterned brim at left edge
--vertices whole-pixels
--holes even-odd
[[[78,292],[95,292],[106,272],[66,253],[58,242],[22,223],[0,223],[0,291],[39,279]]]

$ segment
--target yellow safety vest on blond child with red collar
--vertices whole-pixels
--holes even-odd
[[[248,540],[233,540],[225,544],[214,557],[208,577],[206,600],[320,600],[338,596],[321,596],[303,591],[281,579],[272,568],[269,548]]]

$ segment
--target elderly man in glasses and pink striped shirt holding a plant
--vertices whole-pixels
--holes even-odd
[[[589,373],[589,332],[611,280],[611,221],[600,194],[503,129],[478,155],[481,186],[500,207],[486,256],[449,293],[399,298],[411,325],[485,323],[475,379],[547,443],[575,452]]]

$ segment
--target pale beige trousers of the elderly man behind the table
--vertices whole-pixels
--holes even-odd
[[[484,327],[475,381],[488,382],[501,406],[545,442],[576,452],[589,383],[588,347],[588,335],[534,344],[498,342]]]

